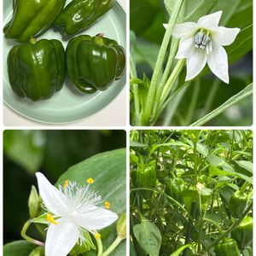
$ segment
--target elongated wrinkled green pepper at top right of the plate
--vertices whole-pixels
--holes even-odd
[[[96,23],[109,9],[115,0],[73,0],[61,11],[55,25],[63,34],[72,36]]]

